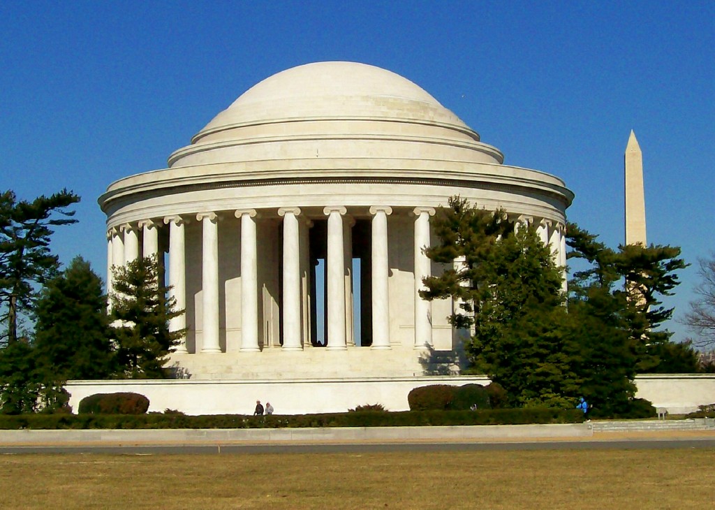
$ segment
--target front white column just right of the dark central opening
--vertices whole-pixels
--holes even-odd
[[[392,207],[370,207],[373,215],[373,349],[390,349],[388,215]]]

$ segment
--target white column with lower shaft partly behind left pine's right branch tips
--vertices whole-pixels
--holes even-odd
[[[186,236],[185,222],[181,216],[167,216],[164,224],[169,225],[169,295],[174,298],[177,310],[186,309]],[[186,314],[169,320],[169,331],[186,328]],[[187,353],[186,337],[179,340],[175,353]]]

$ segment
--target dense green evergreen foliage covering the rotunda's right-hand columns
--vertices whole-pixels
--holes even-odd
[[[448,320],[475,331],[465,343],[470,371],[503,386],[513,405],[571,406],[580,383],[573,371],[578,347],[562,329],[568,317],[550,248],[533,227],[515,233],[502,210],[460,197],[439,210],[433,225],[439,242],[425,253],[445,269],[425,278],[428,290],[420,295],[460,303]]]

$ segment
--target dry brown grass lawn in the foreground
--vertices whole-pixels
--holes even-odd
[[[3,509],[712,508],[715,449],[7,455]]]

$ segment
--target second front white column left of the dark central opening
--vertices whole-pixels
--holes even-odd
[[[256,211],[235,212],[241,218],[241,350],[258,348],[258,256],[256,247]]]

